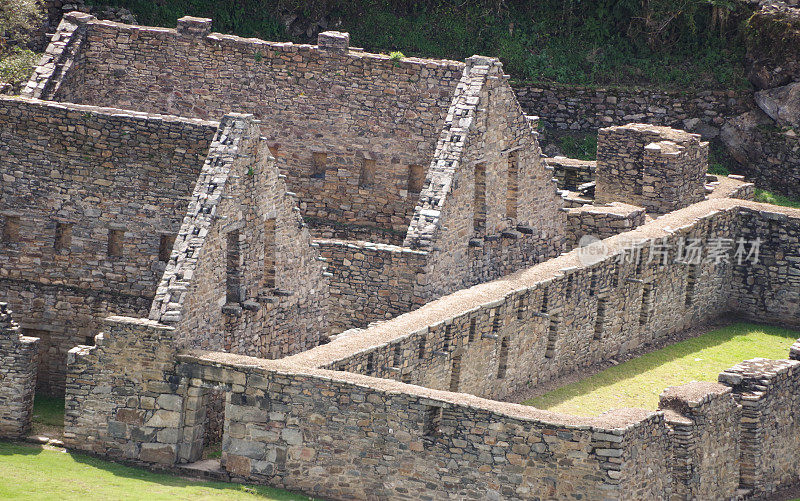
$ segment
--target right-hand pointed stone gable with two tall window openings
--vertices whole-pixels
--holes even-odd
[[[445,123],[403,244],[431,251],[428,298],[541,262],[564,245],[552,169],[499,61],[467,60]]]

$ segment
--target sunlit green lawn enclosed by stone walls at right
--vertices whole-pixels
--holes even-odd
[[[657,409],[668,386],[716,381],[717,375],[742,360],[785,359],[800,332],[737,323],[687,339],[606,369],[524,402],[539,409],[597,416],[611,409]]]

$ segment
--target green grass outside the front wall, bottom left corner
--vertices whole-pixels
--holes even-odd
[[[0,499],[307,500],[262,486],[200,482],[91,456],[0,442]]]

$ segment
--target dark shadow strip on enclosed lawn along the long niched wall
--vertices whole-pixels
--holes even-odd
[[[800,333],[798,332],[782,329],[780,327],[737,322],[729,325],[728,327],[716,329],[708,332],[707,334],[666,346],[652,353],[647,353],[632,360],[628,360],[620,365],[609,367],[608,369],[589,376],[584,380],[578,381],[577,383],[566,385],[569,387],[570,391],[559,391],[561,388],[565,388],[566,386],[555,389],[545,394],[548,396],[548,398],[546,405],[543,407],[555,407],[568,400],[588,395],[627,379],[632,379],[643,372],[653,370],[677,359],[687,357],[692,353],[730,342],[736,337],[747,336],[755,331],[764,332],[768,335],[784,337],[789,340],[795,340],[798,336],[800,336]],[[788,350],[786,355],[788,357]],[[755,358],[756,356],[758,355],[753,355],[747,358]],[[742,358],[742,360],[746,360],[747,358]],[[542,405],[540,399],[542,399],[545,395],[527,400],[523,403],[525,405],[531,405],[534,407],[536,407],[537,404]]]

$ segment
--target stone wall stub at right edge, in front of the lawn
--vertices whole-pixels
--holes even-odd
[[[759,496],[800,475],[800,361],[747,360],[719,375],[742,406],[742,487]]]

